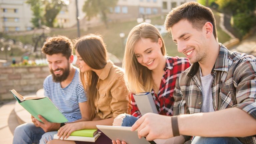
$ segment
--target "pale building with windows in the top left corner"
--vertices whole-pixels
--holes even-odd
[[[31,30],[32,17],[26,0],[0,0],[0,32]]]

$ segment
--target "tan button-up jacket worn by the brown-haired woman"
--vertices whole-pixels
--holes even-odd
[[[109,61],[103,68],[97,83],[98,93],[94,105],[101,119],[129,113],[130,95],[125,86],[123,71]]]

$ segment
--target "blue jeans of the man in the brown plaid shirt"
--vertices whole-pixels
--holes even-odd
[[[242,143],[235,137],[194,136],[191,144],[242,144]]]

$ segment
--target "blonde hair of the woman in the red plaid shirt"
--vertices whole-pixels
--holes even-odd
[[[162,40],[161,52],[163,56],[166,55],[166,49],[163,38],[158,29],[149,23],[141,23],[135,26],[129,33],[127,43],[125,46],[123,68],[125,69],[124,79],[128,89],[132,93],[150,92],[155,87],[151,70],[138,63],[134,51],[135,44],[141,38],[149,38],[152,42]]]

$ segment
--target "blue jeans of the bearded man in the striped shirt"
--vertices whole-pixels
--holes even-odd
[[[40,127],[33,123],[25,123],[16,127],[13,135],[13,144],[46,144],[53,139],[57,131],[44,132]]]

